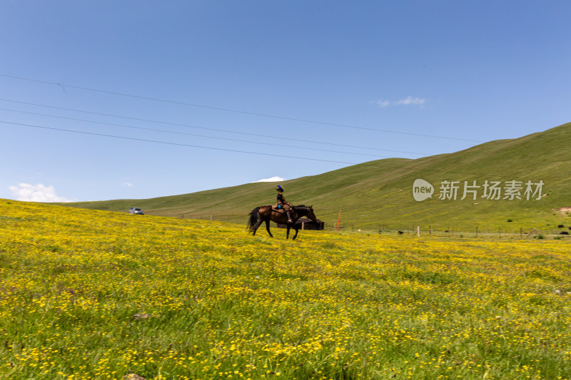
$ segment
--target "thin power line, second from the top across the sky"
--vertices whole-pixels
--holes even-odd
[[[366,150],[380,150],[380,151],[393,152],[393,153],[408,153],[408,154],[414,154],[414,155],[427,155],[427,153],[407,152],[407,151],[404,151],[404,150],[390,150],[390,149],[380,149],[380,148],[368,148],[368,147],[357,146],[357,145],[345,145],[345,144],[335,144],[335,143],[323,143],[323,142],[321,142],[321,141],[301,140],[301,139],[298,139],[298,138],[285,138],[285,137],[281,137],[281,136],[261,135],[261,134],[258,134],[258,133],[236,132],[235,130],[225,130],[225,129],[219,129],[219,128],[200,127],[200,126],[197,126],[197,125],[188,125],[188,124],[181,124],[181,123],[170,123],[170,122],[168,122],[168,121],[158,121],[158,120],[148,120],[148,119],[143,119],[143,118],[133,118],[133,117],[130,117],[130,116],[112,115],[112,114],[109,114],[109,113],[98,113],[98,112],[93,112],[93,111],[78,110],[78,109],[74,109],[74,108],[63,108],[63,107],[56,107],[56,106],[46,106],[46,105],[44,105],[44,104],[27,103],[27,102],[22,102],[22,101],[14,101],[14,100],[11,100],[11,99],[2,99],[2,98],[0,98],[0,101],[7,101],[7,102],[11,102],[11,103],[26,104],[26,105],[28,105],[28,106],[38,106],[38,107],[44,107],[44,108],[54,108],[54,109],[63,110],[63,111],[73,111],[73,112],[80,112],[80,113],[89,113],[89,114],[92,114],[92,115],[108,116],[108,117],[111,117],[111,118],[123,118],[123,119],[127,119],[127,120],[143,121],[143,122],[146,122],[146,123],[158,123],[158,124],[165,124],[165,125],[175,125],[175,126],[186,127],[186,128],[196,128],[196,129],[203,129],[203,130],[214,130],[214,131],[216,131],[216,132],[235,133],[235,134],[238,134],[238,135],[250,135],[250,136],[262,137],[262,138],[273,138],[273,139],[276,139],[276,138],[277,138],[277,139],[281,139],[281,140],[297,141],[297,142],[301,142],[301,143],[313,143],[313,144],[340,146],[340,147],[343,147],[343,148],[358,148],[358,149],[366,149]]]

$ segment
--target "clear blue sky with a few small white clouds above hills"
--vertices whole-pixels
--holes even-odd
[[[289,180],[571,121],[569,1],[0,6],[2,198]]]

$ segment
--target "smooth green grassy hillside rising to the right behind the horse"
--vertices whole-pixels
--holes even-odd
[[[433,185],[431,198],[417,201],[413,183],[423,179]],[[443,181],[458,181],[456,199],[440,199]],[[477,199],[465,181],[479,188]],[[485,181],[500,182],[500,199],[487,199]],[[521,199],[506,195],[507,181],[520,182]],[[526,199],[526,183],[537,190],[544,183],[540,199]],[[515,185],[518,185],[517,183]],[[329,173],[288,180],[283,183],[286,199],[294,204],[313,205],[316,215],[332,227],[342,210],[345,229],[403,230],[420,225],[423,230],[555,230],[571,223],[571,123],[521,138],[495,140],[456,153],[416,160],[390,158],[353,165]],[[517,189],[515,189],[517,190]],[[517,192],[517,191],[515,191]],[[448,194],[447,194],[448,195]],[[126,212],[141,207],[148,215],[223,220],[246,224],[254,207],[274,202],[273,183],[248,183],[169,197],[144,200],[106,200],[65,205]]]

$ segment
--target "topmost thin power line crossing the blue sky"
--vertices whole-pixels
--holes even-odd
[[[290,118],[287,116],[278,116],[278,115],[269,115],[266,113],[256,113],[256,112],[248,112],[248,111],[240,111],[240,110],[233,110],[230,108],[220,108],[220,107],[212,107],[212,106],[203,106],[201,104],[194,104],[194,103],[185,103],[185,102],[180,102],[180,101],[169,101],[166,99],[161,99],[161,98],[151,98],[148,96],[138,96],[138,95],[132,95],[132,94],[128,94],[128,93],[119,93],[119,92],[115,92],[115,91],[106,91],[106,90],[98,90],[96,88],[89,88],[89,87],[81,87],[81,86],[71,86],[65,83],[56,83],[56,82],[49,82],[49,81],[39,81],[38,79],[31,79],[31,78],[22,78],[19,76],[9,76],[6,74],[0,74],[0,76],[4,76],[5,78],[12,78],[12,79],[19,79],[21,81],[29,81],[29,82],[36,82],[36,83],[44,83],[44,84],[51,84],[54,86],[59,86],[59,87],[69,87],[69,88],[76,88],[78,90],[84,90],[84,91],[93,91],[93,92],[98,92],[98,93],[107,93],[110,95],[117,95],[117,96],[126,96],[129,98],[137,98],[137,99],[144,99],[147,101],[158,101],[158,102],[162,102],[162,103],[171,103],[171,104],[178,104],[181,106],[191,106],[191,107],[198,107],[198,108],[208,108],[211,110],[216,110],[216,111],[226,111],[226,112],[233,112],[233,113],[242,113],[242,114],[246,114],[246,115],[255,115],[255,116],[262,116],[265,118],[276,118],[276,119],[281,119],[281,120],[292,120],[292,121],[300,121],[303,123],[314,123],[314,124],[322,124],[322,125],[334,125],[336,127],[343,127],[343,128],[353,128],[353,129],[360,129],[360,130],[374,130],[375,132],[384,132],[384,133],[395,133],[395,134],[399,134],[399,135],[411,135],[411,136],[418,136],[418,137],[426,137],[426,138],[442,138],[445,140],[457,140],[457,141],[469,141],[471,143],[485,143],[485,141],[479,141],[479,140],[469,140],[469,139],[465,139],[465,138],[451,138],[451,137],[445,137],[445,136],[438,136],[438,135],[423,135],[420,133],[410,133],[410,132],[401,132],[398,130],[384,130],[384,129],[378,129],[378,128],[368,128],[368,127],[361,127],[361,126],[357,126],[357,125],[348,125],[348,124],[340,124],[340,123],[329,123],[326,121],[318,121],[318,120],[307,120],[307,119],[300,119],[300,118]]]

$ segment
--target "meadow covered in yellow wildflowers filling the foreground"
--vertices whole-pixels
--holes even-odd
[[[0,200],[0,379],[571,379],[565,240]]]

